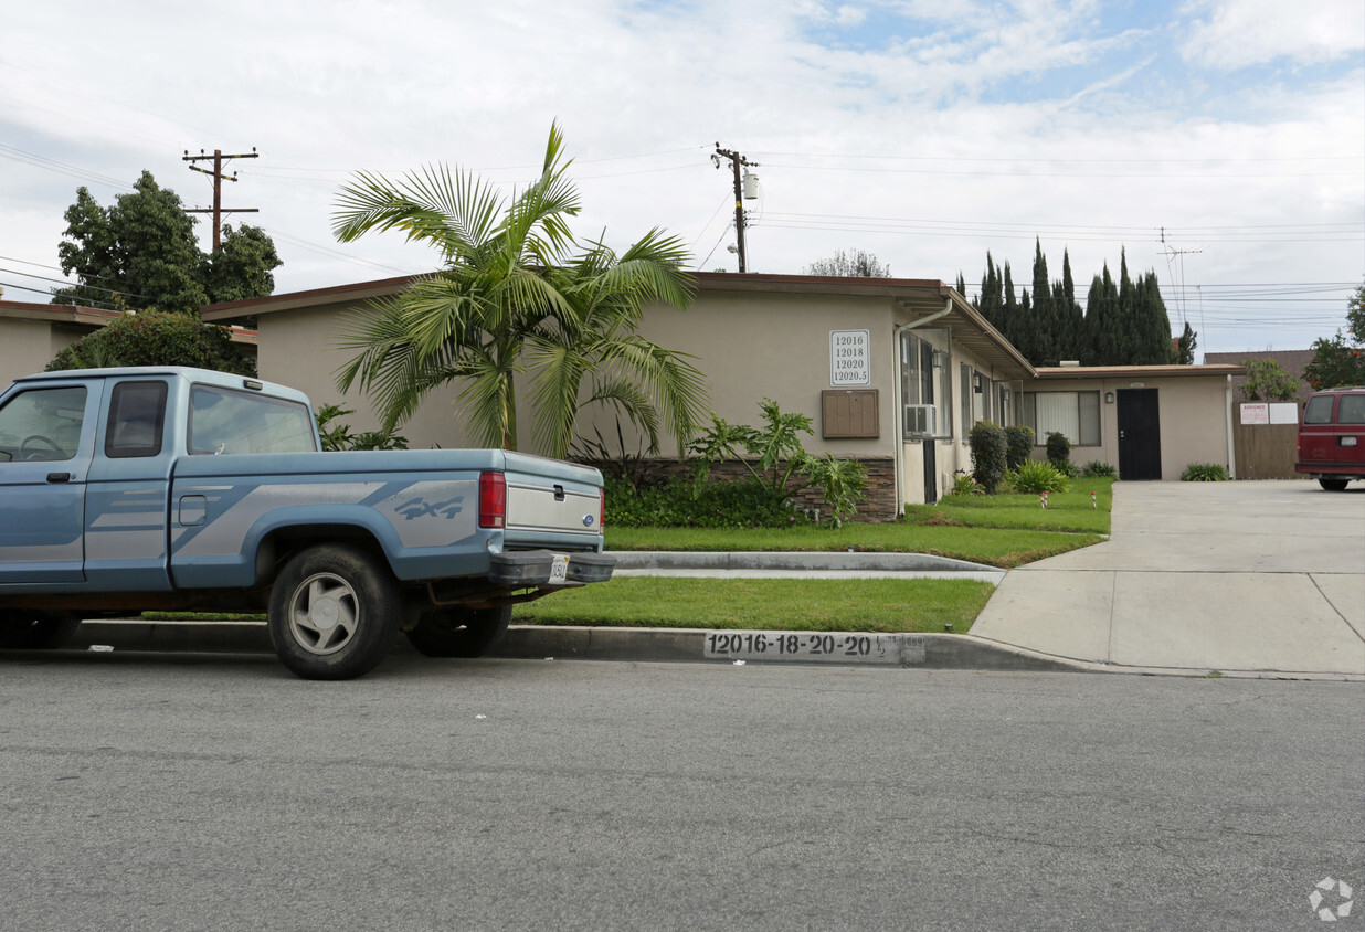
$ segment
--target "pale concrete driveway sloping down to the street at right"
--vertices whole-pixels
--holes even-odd
[[[1111,539],[1007,573],[972,633],[1127,667],[1365,675],[1365,487],[1117,483]]]

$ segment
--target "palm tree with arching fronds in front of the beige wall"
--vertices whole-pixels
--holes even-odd
[[[516,381],[528,373],[532,437],[550,456],[566,454],[587,404],[614,405],[654,453],[661,416],[680,445],[692,437],[706,409],[702,374],[691,358],[635,332],[647,304],[691,303],[687,250],[652,229],[621,255],[602,243],[572,254],[568,218],[579,195],[562,147],[551,126],[541,177],[506,207],[489,184],[445,166],[399,181],[362,172],[343,188],[337,239],[400,229],[444,261],[348,321],[341,345],[359,355],[339,370],[337,386],[367,392],[385,430],[431,389],[460,382],[479,442],[516,449]]]

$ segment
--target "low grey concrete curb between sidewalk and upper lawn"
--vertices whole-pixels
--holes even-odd
[[[932,554],[612,550],[617,569],[845,570],[868,573],[1003,573],[999,566]]]

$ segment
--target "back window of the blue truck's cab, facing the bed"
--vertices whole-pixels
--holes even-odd
[[[190,453],[311,453],[307,405],[266,394],[195,385],[190,392]]]

